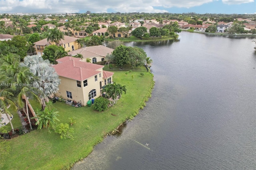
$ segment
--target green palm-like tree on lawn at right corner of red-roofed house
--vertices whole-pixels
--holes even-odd
[[[114,82],[106,85],[105,88],[102,89],[102,94],[106,93],[106,95],[110,97],[110,105],[113,106],[122,96],[123,91],[124,94],[126,94],[126,86],[116,84],[116,82]]]

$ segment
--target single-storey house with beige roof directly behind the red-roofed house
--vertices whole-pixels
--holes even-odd
[[[96,63],[98,61],[104,61],[106,55],[111,54],[114,49],[105,47],[104,45],[96,45],[91,47],[84,47],[74,51],[68,52],[69,55],[82,54],[82,61],[86,61],[87,58],[92,60],[92,63]]]

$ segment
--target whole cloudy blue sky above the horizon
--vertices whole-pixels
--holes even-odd
[[[256,0],[0,0],[0,13],[254,14]]]

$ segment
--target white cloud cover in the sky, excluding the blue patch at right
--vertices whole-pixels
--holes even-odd
[[[191,8],[216,0],[0,0],[0,13],[168,12],[168,8]],[[254,0],[222,0],[242,4]]]

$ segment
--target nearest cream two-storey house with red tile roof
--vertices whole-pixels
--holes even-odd
[[[103,71],[103,65],[87,63],[75,57],[62,57],[53,65],[61,83],[56,96],[86,105],[100,97],[104,85],[112,83],[113,72]]]

